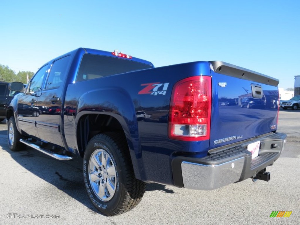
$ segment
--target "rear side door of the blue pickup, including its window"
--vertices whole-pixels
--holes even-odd
[[[44,89],[38,98],[37,106],[48,107],[46,113],[41,112],[37,117],[37,130],[41,139],[64,146],[61,138],[60,123],[62,120],[62,93],[67,76],[70,56],[56,59],[46,78]]]

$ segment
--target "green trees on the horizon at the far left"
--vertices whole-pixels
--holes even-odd
[[[15,71],[10,69],[8,66],[4,66],[0,64],[0,81],[6,81],[6,82],[19,81],[22,82],[23,84],[27,84],[27,74],[28,74],[28,79],[30,80],[35,73],[30,71],[19,71],[16,74]]]

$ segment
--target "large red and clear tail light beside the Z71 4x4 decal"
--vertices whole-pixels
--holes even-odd
[[[174,85],[169,113],[170,139],[208,140],[210,117],[210,76],[188,77]]]

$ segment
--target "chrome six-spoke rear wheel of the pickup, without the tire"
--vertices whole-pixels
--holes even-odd
[[[97,149],[91,155],[88,171],[91,187],[98,198],[104,202],[112,199],[116,192],[116,168],[104,149]]]

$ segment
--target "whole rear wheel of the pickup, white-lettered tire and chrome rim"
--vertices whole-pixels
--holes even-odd
[[[116,133],[98,134],[89,141],[83,158],[83,177],[91,202],[107,216],[137,206],[146,189],[146,184],[135,178],[126,139]]]

